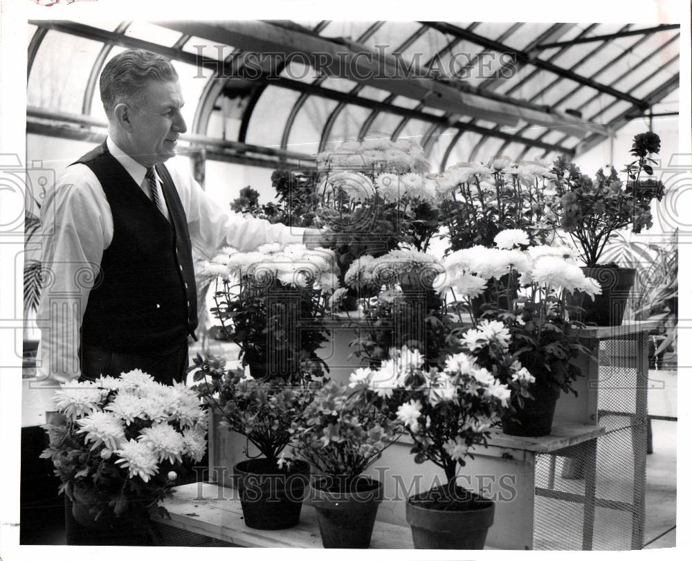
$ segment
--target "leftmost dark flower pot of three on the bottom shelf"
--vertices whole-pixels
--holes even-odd
[[[310,477],[307,462],[297,460],[286,472],[278,468],[275,459],[246,460],[233,467],[233,476],[246,526],[283,530],[298,524]]]

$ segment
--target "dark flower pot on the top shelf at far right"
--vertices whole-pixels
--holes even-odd
[[[574,319],[600,327],[621,325],[637,270],[608,265],[582,267],[581,270],[585,276],[592,277],[601,284],[601,294],[594,297],[594,300],[581,292],[568,295],[567,304],[581,308],[576,309]]]

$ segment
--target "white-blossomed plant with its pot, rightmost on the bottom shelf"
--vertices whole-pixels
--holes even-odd
[[[507,351],[504,351],[507,355]],[[457,469],[486,446],[489,429],[509,405],[510,389],[468,353],[446,358],[444,367],[426,369],[418,351],[392,349],[379,368],[351,376],[356,391],[374,392],[376,405],[413,441],[415,461],[432,461],[447,483],[409,497],[406,519],[417,549],[482,549],[493,524],[495,505],[457,485]],[[502,375],[502,374],[500,374]]]

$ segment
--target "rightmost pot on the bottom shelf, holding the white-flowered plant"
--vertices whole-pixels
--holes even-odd
[[[415,549],[483,549],[493,525],[495,503],[457,487],[433,488],[409,497],[406,521],[411,526]],[[435,496],[446,497],[435,499]]]

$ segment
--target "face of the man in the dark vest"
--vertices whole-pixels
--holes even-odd
[[[149,81],[140,100],[131,113],[130,156],[150,167],[175,156],[178,137],[188,127],[180,112],[184,102],[177,80]]]

